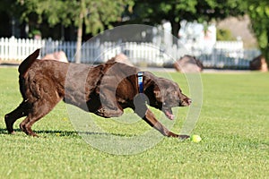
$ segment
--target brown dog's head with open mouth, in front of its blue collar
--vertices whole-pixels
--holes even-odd
[[[182,93],[178,84],[164,78],[156,78],[153,82],[150,106],[160,109],[170,120],[174,119],[172,107],[187,107],[192,101]],[[147,91],[146,93],[148,93]]]

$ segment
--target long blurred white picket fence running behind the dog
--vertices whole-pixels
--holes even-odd
[[[0,60],[22,61],[37,48],[41,48],[39,57],[56,51],[64,51],[68,60],[74,62],[76,42],[54,41],[51,39],[0,38]],[[152,43],[138,42],[100,42],[88,41],[82,45],[81,63],[99,64],[111,57],[124,53],[136,65],[171,66],[183,55],[196,55],[209,68],[248,68],[249,61],[260,52],[244,50],[242,42],[217,42],[212,54],[203,50],[190,52],[184,47],[162,47]]]

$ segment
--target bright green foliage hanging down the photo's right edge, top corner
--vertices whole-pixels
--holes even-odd
[[[251,20],[251,28],[256,34],[258,46],[269,64],[269,2],[248,0],[247,13]]]

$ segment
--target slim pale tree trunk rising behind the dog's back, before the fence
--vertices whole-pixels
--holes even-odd
[[[81,63],[81,54],[82,54],[82,25],[83,25],[83,13],[82,10],[80,12],[78,23],[78,30],[77,30],[77,37],[76,37],[76,55],[75,55],[75,63]]]

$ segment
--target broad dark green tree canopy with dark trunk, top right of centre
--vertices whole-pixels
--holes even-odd
[[[178,37],[180,21],[212,21],[228,16],[244,14],[243,0],[135,0],[134,22],[160,24],[167,20],[171,23],[171,33]]]

